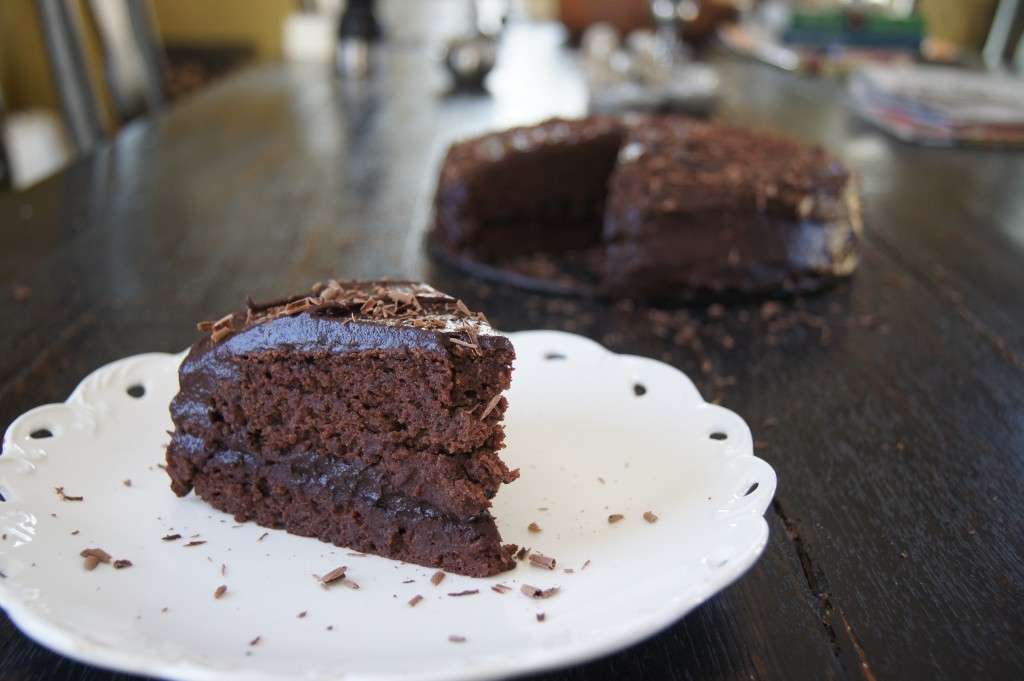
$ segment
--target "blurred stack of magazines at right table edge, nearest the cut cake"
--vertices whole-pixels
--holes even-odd
[[[1024,79],[945,67],[867,68],[853,108],[891,134],[933,145],[1024,146]]]

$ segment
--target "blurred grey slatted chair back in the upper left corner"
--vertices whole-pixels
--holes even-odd
[[[86,68],[86,16],[76,0],[36,0],[36,5],[68,131],[76,151],[88,152],[105,127],[100,91]],[[164,56],[148,2],[87,0],[86,8],[99,36],[115,124],[163,109]]]

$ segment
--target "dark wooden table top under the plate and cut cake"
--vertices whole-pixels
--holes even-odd
[[[778,472],[750,573],[653,639],[543,678],[1024,678],[1024,156],[895,142],[849,115],[841,84],[723,56],[721,118],[821,142],[859,174],[854,281],[724,313],[484,286],[422,253],[445,144],[585,105],[552,36],[511,38],[489,98],[438,96],[423,45],[397,37],[360,87],[251,70],[0,196],[0,423],[104,363],[185,347],[248,294],[423,278],[503,329],[682,368]],[[123,677],[4,618],[0,678]]]

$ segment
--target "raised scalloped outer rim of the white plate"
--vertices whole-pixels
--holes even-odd
[[[678,593],[673,594],[672,598],[667,598],[665,607],[645,615],[635,615],[628,627],[620,627],[603,637],[595,636],[585,641],[574,641],[564,647],[530,650],[524,655],[521,662],[517,661],[517,664],[513,666],[510,666],[507,659],[486,661],[486,664],[483,665],[462,669],[436,670],[433,672],[428,670],[415,675],[402,673],[368,674],[339,671],[337,674],[329,676],[297,676],[295,678],[302,678],[306,681],[335,678],[354,681],[384,681],[398,678],[406,680],[415,679],[416,681],[463,681],[519,676],[593,661],[635,645],[676,624],[695,607],[734,583],[753,566],[764,551],[768,541],[768,524],[764,518],[764,514],[774,497],[777,478],[772,467],[763,459],[755,456],[753,436],[750,428],[738,415],[725,408],[705,401],[692,381],[684,373],[656,359],[639,355],[618,354],[604,348],[592,339],[560,331],[521,331],[507,335],[513,340],[513,343],[516,343],[517,339],[525,340],[529,338],[532,340],[550,338],[561,344],[574,343],[580,347],[589,348],[590,351],[599,351],[600,353],[614,357],[616,360],[639,363],[641,365],[653,364],[658,365],[662,369],[671,370],[681,382],[685,383],[687,390],[695,396],[694,409],[714,410],[720,416],[728,418],[738,427],[736,434],[739,437],[730,438],[732,441],[729,442],[729,456],[730,458],[745,459],[748,460],[746,463],[756,466],[759,469],[759,479],[756,487],[757,492],[751,495],[740,508],[731,512],[729,519],[735,521],[738,517],[757,516],[758,529],[755,541],[737,553],[730,554],[728,564],[714,572],[715,578],[707,580],[702,584],[702,588],[690,590],[683,594],[682,597]],[[186,352],[173,354],[163,352],[143,353],[103,365],[87,375],[65,402],[43,405],[17,417],[11,422],[4,433],[2,456],[0,456],[0,471],[3,471],[6,466],[11,465],[33,466],[32,461],[36,458],[36,455],[31,450],[27,450],[18,443],[16,434],[24,430],[25,425],[36,416],[55,407],[70,406],[78,410],[80,416],[91,420],[95,418],[95,414],[93,406],[89,401],[88,389],[94,383],[109,380],[112,375],[119,371],[125,371],[139,361],[171,363],[176,371],[178,364]],[[5,493],[5,498],[10,499],[10,497],[7,497],[7,493],[13,490],[13,485],[8,484],[7,476],[0,476],[0,490]],[[11,502],[0,502],[0,509],[3,509],[4,504],[7,503]],[[28,601],[14,591],[8,579],[0,579],[0,608],[3,608],[18,630],[41,645],[80,663],[112,671],[195,681],[234,681],[241,679],[280,681],[283,678],[276,673],[253,673],[249,669],[214,669],[189,661],[166,659],[155,656],[152,651],[139,652],[119,649],[113,645],[98,644],[95,641],[86,640],[76,632],[71,631],[66,625],[54,622],[44,613],[40,613],[30,607]]]

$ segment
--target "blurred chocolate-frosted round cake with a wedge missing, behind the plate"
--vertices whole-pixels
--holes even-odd
[[[591,117],[453,145],[429,243],[457,263],[527,263],[526,276],[584,262],[598,293],[686,299],[820,288],[856,268],[859,232],[849,173],[820,148],[678,116]]]

